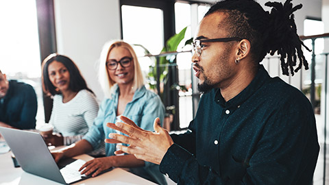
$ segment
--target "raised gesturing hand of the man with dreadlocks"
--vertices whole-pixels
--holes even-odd
[[[154,120],[155,132],[142,130],[125,116],[121,116],[120,119],[125,123],[107,123],[107,126],[123,134],[127,134],[128,136],[111,133],[108,136],[112,139],[106,139],[105,142],[126,143],[130,146],[117,146],[121,151],[134,154],[138,159],[160,164],[167,149],[173,145],[173,140],[169,136],[167,130],[164,130],[160,126],[160,119],[156,118]]]

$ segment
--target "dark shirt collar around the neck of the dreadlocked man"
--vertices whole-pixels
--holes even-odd
[[[258,66],[258,72],[252,82],[243,90],[239,95],[236,95],[236,97],[233,97],[229,101],[225,101],[223,96],[221,95],[221,90],[217,88],[215,100],[219,103],[220,106],[225,108],[236,108],[240,106],[243,102],[245,102],[247,99],[249,99],[250,96],[252,96],[258,88],[263,86],[263,84],[269,79],[269,73],[264,69],[263,65]]]

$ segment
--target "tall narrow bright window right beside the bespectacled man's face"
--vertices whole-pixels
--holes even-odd
[[[184,47],[186,40],[192,38],[192,34],[195,31],[191,30],[195,29],[194,27],[191,27],[191,23],[195,23],[195,25],[197,25],[197,23],[199,23],[199,21],[201,21],[204,17],[206,11],[209,9],[209,6],[207,5],[197,5],[197,8],[194,7],[195,4],[190,5],[188,3],[175,3],[176,34],[179,33],[184,27],[187,27],[185,38],[178,46],[178,51],[187,51],[192,49],[191,46]],[[192,16],[192,14],[197,16]],[[193,17],[197,17],[197,20],[193,20]],[[178,94],[180,103],[180,129],[188,127],[190,121],[192,121],[193,117],[195,116],[195,110],[197,108],[197,101],[193,101],[193,93],[197,95],[198,92],[196,88],[192,88],[192,81],[198,81],[198,79],[194,77],[193,69],[191,69],[191,57],[192,53],[180,53],[177,55],[176,59],[178,64],[179,84],[180,86],[184,86],[186,88],[186,90],[180,89]]]

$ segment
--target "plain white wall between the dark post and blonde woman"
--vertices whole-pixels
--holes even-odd
[[[77,64],[101,101],[97,61],[106,41],[121,38],[119,0],[55,0],[54,7],[58,53]]]

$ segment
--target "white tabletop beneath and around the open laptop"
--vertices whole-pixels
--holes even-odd
[[[83,154],[77,156],[82,160],[90,160],[92,157]],[[1,185],[31,185],[31,184],[47,184],[47,185],[58,185],[58,182],[47,180],[43,177],[32,175],[26,173],[21,168],[14,168],[14,164],[11,158],[11,152],[0,154],[0,184]],[[130,172],[125,171],[124,169],[116,168],[112,171],[108,171],[97,177],[90,177],[86,180],[76,182],[75,184],[108,184],[108,185],[128,185],[128,184],[154,184],[149,180],[145,180],[142,177],[138,177]]]

